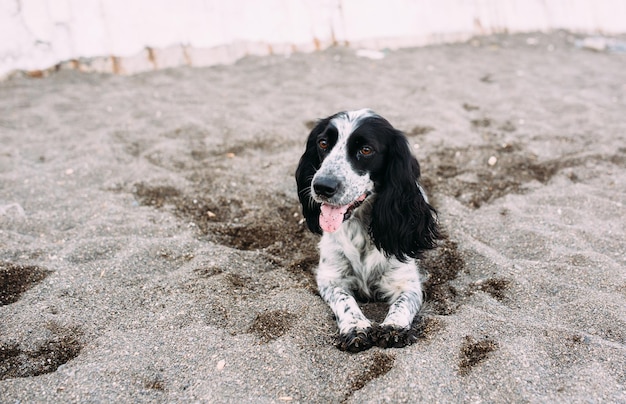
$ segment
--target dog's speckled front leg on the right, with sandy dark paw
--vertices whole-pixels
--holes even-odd
[[[377,344],[384,348],[410,345],[417,340],[411,325],[424,299],[417,266],[414,262],[392,263],[388,273],[382,276],[380,286],[390,307],[375,332]]]

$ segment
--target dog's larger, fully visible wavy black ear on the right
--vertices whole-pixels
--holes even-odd
[[[386,168],[377,181],[370,232],[376,247],[400,261],[420,258],[441,233],[437,212],[418,185],[420,168],[402,132],[389,130]]]

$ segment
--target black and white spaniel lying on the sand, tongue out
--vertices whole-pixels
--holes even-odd
[[[401,347],[422,301],[416,259],[439,239],[404,134],[371,110],[339,112],[311,131],[296,171],[309,229],[322,234],[317,286],[339,327],[339,348]],[[384,300],[381,324],[358,299]]]

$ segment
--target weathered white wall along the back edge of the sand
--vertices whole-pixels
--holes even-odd
[[[64,61],[133,73],[551,29],[624,33],[626,0],[0,0],[0,77]]]

